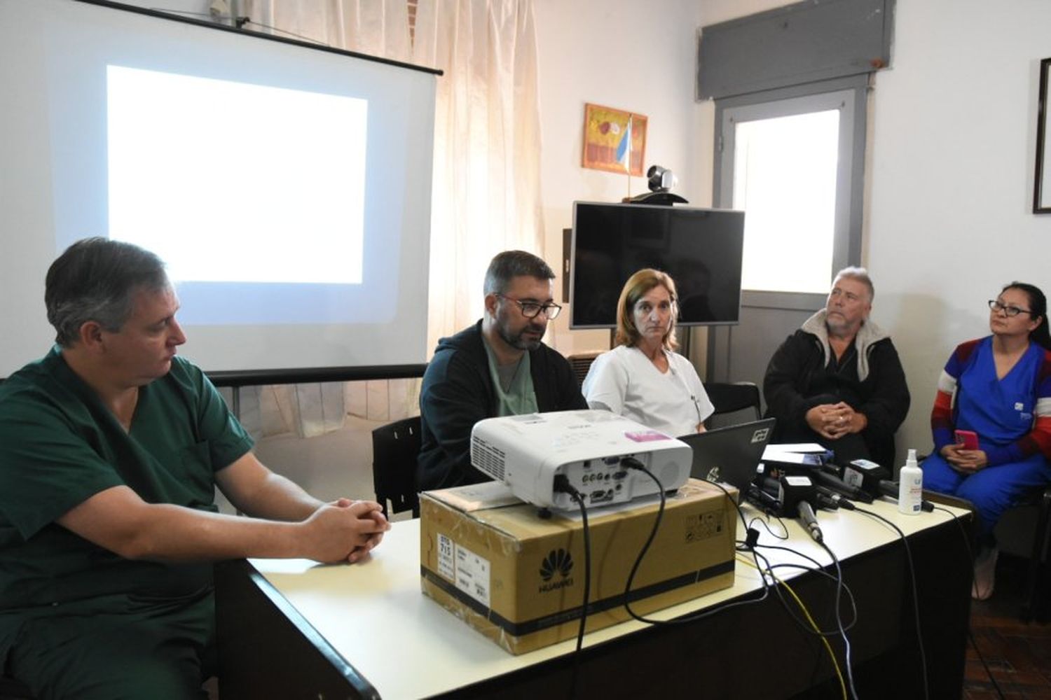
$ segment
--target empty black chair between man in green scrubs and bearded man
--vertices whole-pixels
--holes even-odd
[[[419,517],[416,495],[416,458],[419,455],[419,416],[380,426],[372,431],[372,482],[384,515],[412,510]]]

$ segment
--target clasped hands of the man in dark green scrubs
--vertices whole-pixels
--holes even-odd
[[[350,499],[325,504],[303,525],[311,547],[310,558],[326,564],[359,561],[391,528],[378,503]]]

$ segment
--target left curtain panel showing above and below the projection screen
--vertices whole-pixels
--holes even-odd
[[[404,0],[244,0],[248,28],[336,48],[410,61]],[[344,425],[348,413],[393,421],[418,410],[418,380],[282,384],[242,390],[242,421],[254,434],[310,438]]]

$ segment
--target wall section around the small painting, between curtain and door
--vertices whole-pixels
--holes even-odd
[[[671,168],[680,194],[691,203],[709,199],[710,168],[701,167],[698,151],[710,136],[698,132],[694,102],[698,5],[536,0],[544,257],[552,267],[561,261],[574,200],[619,201],[648,191],[643,177],[633,177],[628,189],[626,175],[580,166],[585,103],[645,114],[644,168]],[[569,314],[549,328],[547,342],[565,354],[609,347],[605,331],[569,331]]]

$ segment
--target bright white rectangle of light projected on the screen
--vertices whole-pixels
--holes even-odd
[[[106,76],[111,238],[153,251],[177,281],[362,282],[366,100]]]

